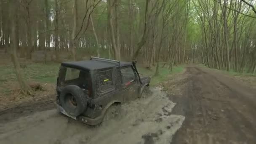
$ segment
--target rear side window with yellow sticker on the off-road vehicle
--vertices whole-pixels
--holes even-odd
[[[101,92],[114,88],[112,80],[112,69],[99,72],[99,84]]]

